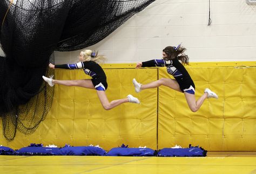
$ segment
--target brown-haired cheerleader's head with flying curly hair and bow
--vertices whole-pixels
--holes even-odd
[[[180,60],[184,65],[188,65],[188,59],[189,57],[184,54],[184,51],[186,50],[186,48],[179,46],[178,49],[174,46],[167,46],[164,48],[163,52],[165,52],[165,54],[167,55],[167,58],[165,58],[166,60],[173,60],[175,58],[177,58],[178,60]]]

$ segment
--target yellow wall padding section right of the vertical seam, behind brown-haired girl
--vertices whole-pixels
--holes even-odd
[[[159,87],[158,148],[200,145],[208,151],[256,150],[256,67],[187,67],[196,99],[205,88],[219,95],[190,111],[184,94]],[[165,68],[159,79],[168,78]]]

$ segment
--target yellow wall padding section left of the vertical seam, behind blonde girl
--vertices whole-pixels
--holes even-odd
[[[6,142],[1,131],[0,145],[19,149],[30,143],[65,143],[99,145],[105,150],[129,144],[129,147],[147,146],[157,149],[157,88],[143,95],[134,91],[132,79],[150,82],[157,80],[157,68],[104,69],[109,87],[109,101],[138,96],[143,102],[124,103],[111,110],[104,110],[94,89],[55,85],[52,108],[35,133],[23,135],[17,132],[15,140]],[[90,78],[80,70],[56,69],[55,79],[72,80]],[[1,125],[2,130],[2,125]]]

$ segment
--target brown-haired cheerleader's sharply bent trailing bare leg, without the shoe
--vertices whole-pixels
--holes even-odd
[[[192,112],[197,112],[197,110],[203,105],[208,94],[204,93],[197,101],[194,94],[184,92],[184,95],[187,100],[188,107],[190,107],[190,110]]]

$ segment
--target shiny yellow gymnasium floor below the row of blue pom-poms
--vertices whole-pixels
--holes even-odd
[[[207,157],[0,156],[0,173],[256,173],[256,152]]]

